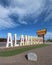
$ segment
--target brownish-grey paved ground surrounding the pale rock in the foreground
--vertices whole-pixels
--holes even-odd
[[[25,55],[29,52],[37,54],[37,62],[28,61],[25,58]],[[52,45],[33,49],[12,57],[0,57],[0,65],[52,65]]]

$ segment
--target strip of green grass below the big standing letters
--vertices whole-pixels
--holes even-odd
[[[48,44],[40,44],[40,45],[34,45],[34,46],[25,46],[25,47],[17,47],[12,50],[5,50],[5,51],[0,51],[0,56],[1,57],[8,57],[8,56],[14,56],[20,53],[23,53],[28,50],[36,49],[36,48],[41,48],[48,46]]]

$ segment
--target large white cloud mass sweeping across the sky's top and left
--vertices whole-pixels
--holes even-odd
[[[43,12],[46,2],[47,0],[10,0],[10,6],[4,8],[0,5],[0,28],[12,28],[16,24],[18,25],[18,22],[20,24],[28,24],[28,22],[23,20],[24,16],[28,17],[29,14],[33,14],[34,18],[38,17]],[[16,23],[8,16],[12,13],[16,13],[19,16],[19,21]]]

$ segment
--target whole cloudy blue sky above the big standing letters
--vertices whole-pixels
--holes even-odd
[[[52,38],[52,0],[0,0],[0,37],[36,36],[44,28],[45,38]]]

